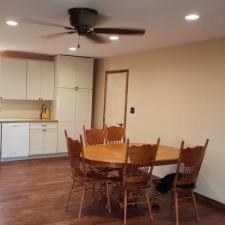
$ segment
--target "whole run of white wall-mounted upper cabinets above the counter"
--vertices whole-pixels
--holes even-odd
[[[0,57],[0,97],[53,100],[54,62]]]

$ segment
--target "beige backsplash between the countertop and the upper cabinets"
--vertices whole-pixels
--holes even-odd
[[[0,118],[39,119],[42,104],[51,110],[49,101],[0,99]]]

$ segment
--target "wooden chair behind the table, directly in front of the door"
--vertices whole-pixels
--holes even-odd
[[[107,127],[105,125],[104,129],[107,144],[125,143],[126,136],[124,127],[116,127],[116,126]]]

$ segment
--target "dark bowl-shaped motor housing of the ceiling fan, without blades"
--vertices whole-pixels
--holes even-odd
[[[96,24],[98,12],[89,8],[72,8],[68,10],[70,24],[80,35],[85,34]]]

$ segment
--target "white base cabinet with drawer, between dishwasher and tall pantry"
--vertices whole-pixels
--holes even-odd
[[[30,123],[30,155],[57,152],[57,123]]]

